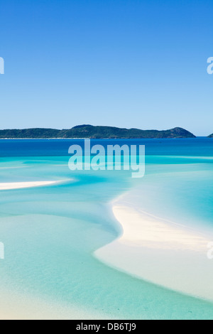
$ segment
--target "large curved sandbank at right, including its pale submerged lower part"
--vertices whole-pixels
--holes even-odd
[[[143,212],[124,200],[113,203],[123,233],[94,256],[116,269],[168,289],[213,301],[213,241],[191,230]]]

